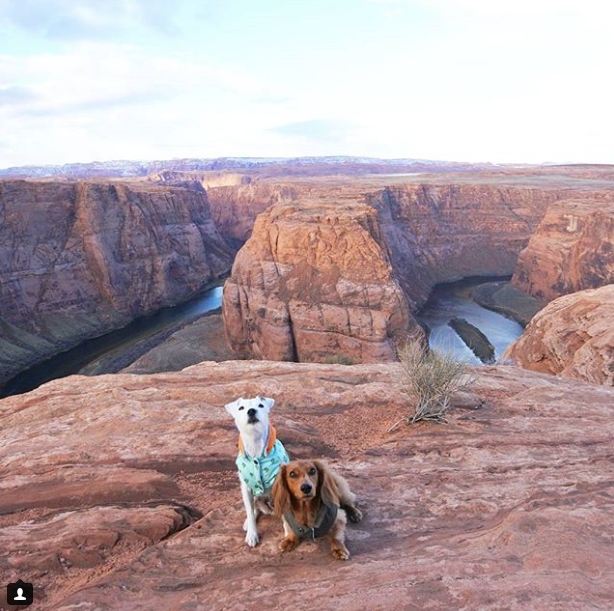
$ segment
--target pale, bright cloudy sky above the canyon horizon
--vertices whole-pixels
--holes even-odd
[[[614,163],[609,0],[0,0],[0,168]]]

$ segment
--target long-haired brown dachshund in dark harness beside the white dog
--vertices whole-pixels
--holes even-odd
[[[282,552],[293,550],[304,539],[327,536],[334,558],[350,557],[345,525],[348,519],[359,522],[362,512],[343,477],[319,460],[295,460],[281,466],[272,495],[275,515],[284,524]]]

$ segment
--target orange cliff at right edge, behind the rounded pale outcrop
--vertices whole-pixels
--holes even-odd
[[[518,258],[512,284],[551,301],[614,282],[614,199],[566,199],[551,205]]]

